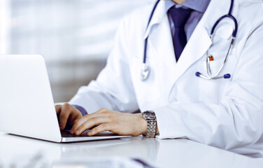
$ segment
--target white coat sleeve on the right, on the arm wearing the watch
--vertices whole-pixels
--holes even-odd
[[[233,79],[218,104],[178,102],[153,109],[158,137],[187,138],[224,149],[257,142],[263,131],[262,39],[261,23],[246,40]]]

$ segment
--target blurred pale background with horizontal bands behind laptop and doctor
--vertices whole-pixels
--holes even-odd
[[[104,68],[122,17],[152,0],[0,0],[0,54],[45,57],[55,102]]]

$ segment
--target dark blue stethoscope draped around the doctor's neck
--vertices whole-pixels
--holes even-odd
[[[150,14],[150,18],[149,18],[149,21],[148,21],[147,28],[150,25],[150,21],[152,20],[152,15],[153,15],[153,13],[155,13],[155,9],[156,9],[159,1],[160,0],[158,0],[155,3],[155,6],[152,9],[152,13]],[[232,49],[232,45],[234,44],[234,41],[235,41],[235,38],[236,38],[236,33],[237,33],[237,30],[238,30],[238,24],[237,24],[236,18],[234,18],[234,16],[232,15],[233,5],[234,5],[234,0],[231,0],[229,13],[227,13],[227,15],[223,15],[221,18],[219,18],[215,22],[215,25],[213,25],[213,27],[211,29],[211,34],[210,34],[210,38],[211,38],[211,41],[213,43],[213,34],[215,32],[215,28],[218,26],[218,23],[221,22],[224,18],[230,18],[230,19],[232,19],[234,21],[235,28],[234,28],[234,31],[232,33],[232,41],[231,41],[231,43],[229,45],[229,49],[227,51],[227,55],[225,57],[225,60],[224,60],[223,64],[220,66],[220,69],[218,70],[217,73],[215,73],[215,75],[213,75],[211,73],[211,64],[210,64],[210,62],[213,61],[213,56],[209,54],[209,49],[210,49],[209,48],[207,50],[207,52],[206,52],[206,73],[207,73],[207,76],[204,76],[199,71],[197,71],[195,73],[196,76],[204,78],[204,79],[208,79],[208,80],[210,80],[210,79],[219,79],[219,78],[231,78],[231,75],[229,73],[226,73],[223,76],[219,76],[219,73],[222,71],[223,67],[225,66],[225,63],[227,62],[227,57],[229,55],[230,50]],[[144,41],[143,64],[142,64],[142,67],[141,67],[141,80],[147,79],[148,76],[149,76],[149,73],[150,73],[150,67],[146,64],[147,43],[148,43],[148,37],[145,38],[145,41]]]

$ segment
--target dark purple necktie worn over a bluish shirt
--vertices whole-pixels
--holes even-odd
[[[172,7],[167,12],[173,20],[173,25],[175,27],[175,33],[173,34],[173,48],[176,54],[176,61],[178,61],[183,52],[183,48],[185,48],[187,43],[185,36],[185,23],[188,20],[191,11],[191,9]]]

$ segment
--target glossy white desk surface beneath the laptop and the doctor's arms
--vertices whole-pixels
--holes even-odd
[[[0,167],[27,160],[41,152],[48,164],[58,160],[96,156],[141,158],[156,167],[263,167],[262,160],[222,151],[186,139],[131,137],[106,141],[56,144],[0,133]],[[51,167],[51,166],[50,166]]]

